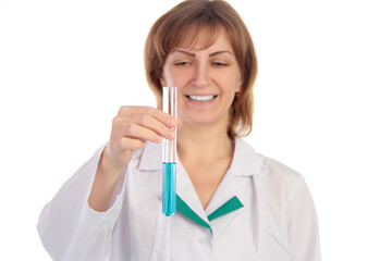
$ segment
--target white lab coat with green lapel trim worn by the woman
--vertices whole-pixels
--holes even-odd
[[[123,170],[110,209],[90,209],[87,199],[102,150],[39,216],[39,236],[53,260],[321,260],[317,215],[304,178],[241,138],[206,210],[177,162],[180,209],[170,217],[161,213],[161,146],[150,142]]]

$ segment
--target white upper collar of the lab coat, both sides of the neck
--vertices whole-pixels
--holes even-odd
[[[234,176],[252,176],[262,172],[264,157],[258,154],[242,138],[236,137],[234,156],[229,171]],[[177,157],[179,162],[179,157]],[[140,157],[139,170],[157,171],[162,169],[162,147],[161,144],[147,142]]]

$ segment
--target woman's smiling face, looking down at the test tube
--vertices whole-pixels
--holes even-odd
[[[199,37],[210,36],[201,33]],[[161,84],[179,88],[183,124],[228,126],[230,107],[241,90],[238,63],[226,34],[221,33],[207,49],[201,49],[203,44],[201,39],[192,49],[174,48],[163,65]]]

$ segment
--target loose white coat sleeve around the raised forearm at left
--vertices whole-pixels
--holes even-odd
[[[122,208],[126,171],[121,174],[109,210],[96,212],[90,209],[87,199],[103,148],[66,181],[40,213],[38,234],[56,261],[109,260],[111,235]]]

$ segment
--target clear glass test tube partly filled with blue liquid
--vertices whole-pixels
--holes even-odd
[[[177,88],[162,88],[162,111],[177,119]],[[162,213],[173,215],[176,209],[176,126],[172,128],[175,138],[162,139]]]

